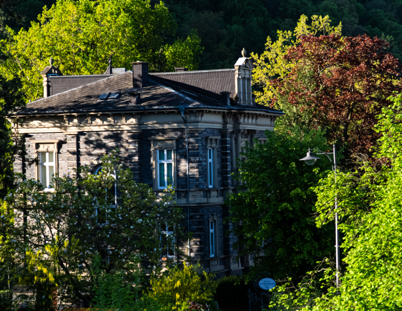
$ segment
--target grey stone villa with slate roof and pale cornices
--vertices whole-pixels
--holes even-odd
[[[22,160],[14,168],[51,188],[52,173],[80,165],[96,173],[102,155],[119,148],[135,180],[157,196],[168,180],[176,187],[193,233],[182,243],[191,260],[207,272],[240,274],[252,255],[236,260],[238,237],[227,235],[232,224],[223,221],[226,195],[237,191],[231,173],[246,142],[263,143],[282,115],[253,101],[252,69],[243,55],[229,69],[150,73],[147,63],[133,62],[129,71],[109,65],[105,74],[64,76],[51,59],[42,71],[44,98],[14,114],[39,164]]]

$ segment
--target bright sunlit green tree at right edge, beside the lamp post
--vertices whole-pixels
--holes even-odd
[[[328,176],[314,187],[318,227],[333,222],[337,198],[345,256],[340,287],[333,284],[334,270],[323,266],[326,276],[304,280],[288,295],[283,295],[285,286],[275,290],[274,295],[280,293],[275,296],[277,305],[316,311],[402,309],[402,96],[390,101],[376,126],[382,133],[376,156],[390,165],[379,170],[365,166],[363,174],[337,172],[336,183]],[[310,280],[314,274],[318,270]]]

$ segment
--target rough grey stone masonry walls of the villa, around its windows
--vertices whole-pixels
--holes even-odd
[[[216,147],[217,155],[217,186],[230,187],[231,176],[228,176],[231,167],[231,152],[233,150],[231,133],[221,133],[217,129],[205,129],[203,132],[189,131],[189,170],[190,189],[207,189],[207,137],[221,136]],[[127,131],[103,131],[103,132],[79,132],[66,135],[63,133],[47,133],[25,135],[26,148],[29,157],[35,156],[35,140],[60,140],[58,143],[58,167],[59,174],[72,172],[79,165],[91,165],[94,169],[96,163],[104,154],[119,148],[120,163],[133,171],[134,179],[138,182],[153,184],[152,168],[153,158],[151,154],[152,142],[148,137],[176,137],[176,186],[178,197],[187,197],[187,146],[185,130],[143,130],[142,132]],[[21,161],[14,164],[16,171],[22,172]],[[35,177],[35,166],[27,167],[27,178]],[[182,190],[182,191],[180,191]],[[203,192],[206,198],[208,192]],[[222,190],[219,190],[222,196]],[[183,212],[187,213],[187,208]],[[190,231],[193,233],[191,241],[191,257],[193,260],[201,260],[208,265],[209,259],[209,216],[217,216],[218,255],[234,256],[237,250],[233,249],[236,241],[234,236],[226,236],[225,233],[232,229],[232,224],[224,224],[225,216],[228,216],[228,208],[221,205],[191,206]],[[187,255],[187,243],[183,241],[182,247]],[[222,259],[225,262],[226,259]],[[222,264],[222,263],[220,263]],[[207,266],[205,266],[207,268]]]

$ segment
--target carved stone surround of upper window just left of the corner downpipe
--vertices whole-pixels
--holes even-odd
[[[153,189],[154,191],[163,191],[163,189],[158,189],[158,176],[157,176],[157,163],[158,156],[156,150],[158,149],[172,149],[172,159],[173,159],[173,187],[176,187],[176,140],[177,137],[148,137],[151,141],[151,157],[152,157],[152,176],[153,176]]]

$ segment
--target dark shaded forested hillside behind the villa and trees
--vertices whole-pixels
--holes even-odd
[[[14,30],[27,28],[53,2],[0,0],[0,14]],[[231,67],[243,47],[260,54],[268,35],[276,39],[278,29],[293,30],[301,14],[328,14],[334,25],[342,22],[343,35],[386,39],[390,52],[402,56],[401,0],[166,0],[165,5],[178,24],[176,37],[197,29],[205,47],[199,69]]]

